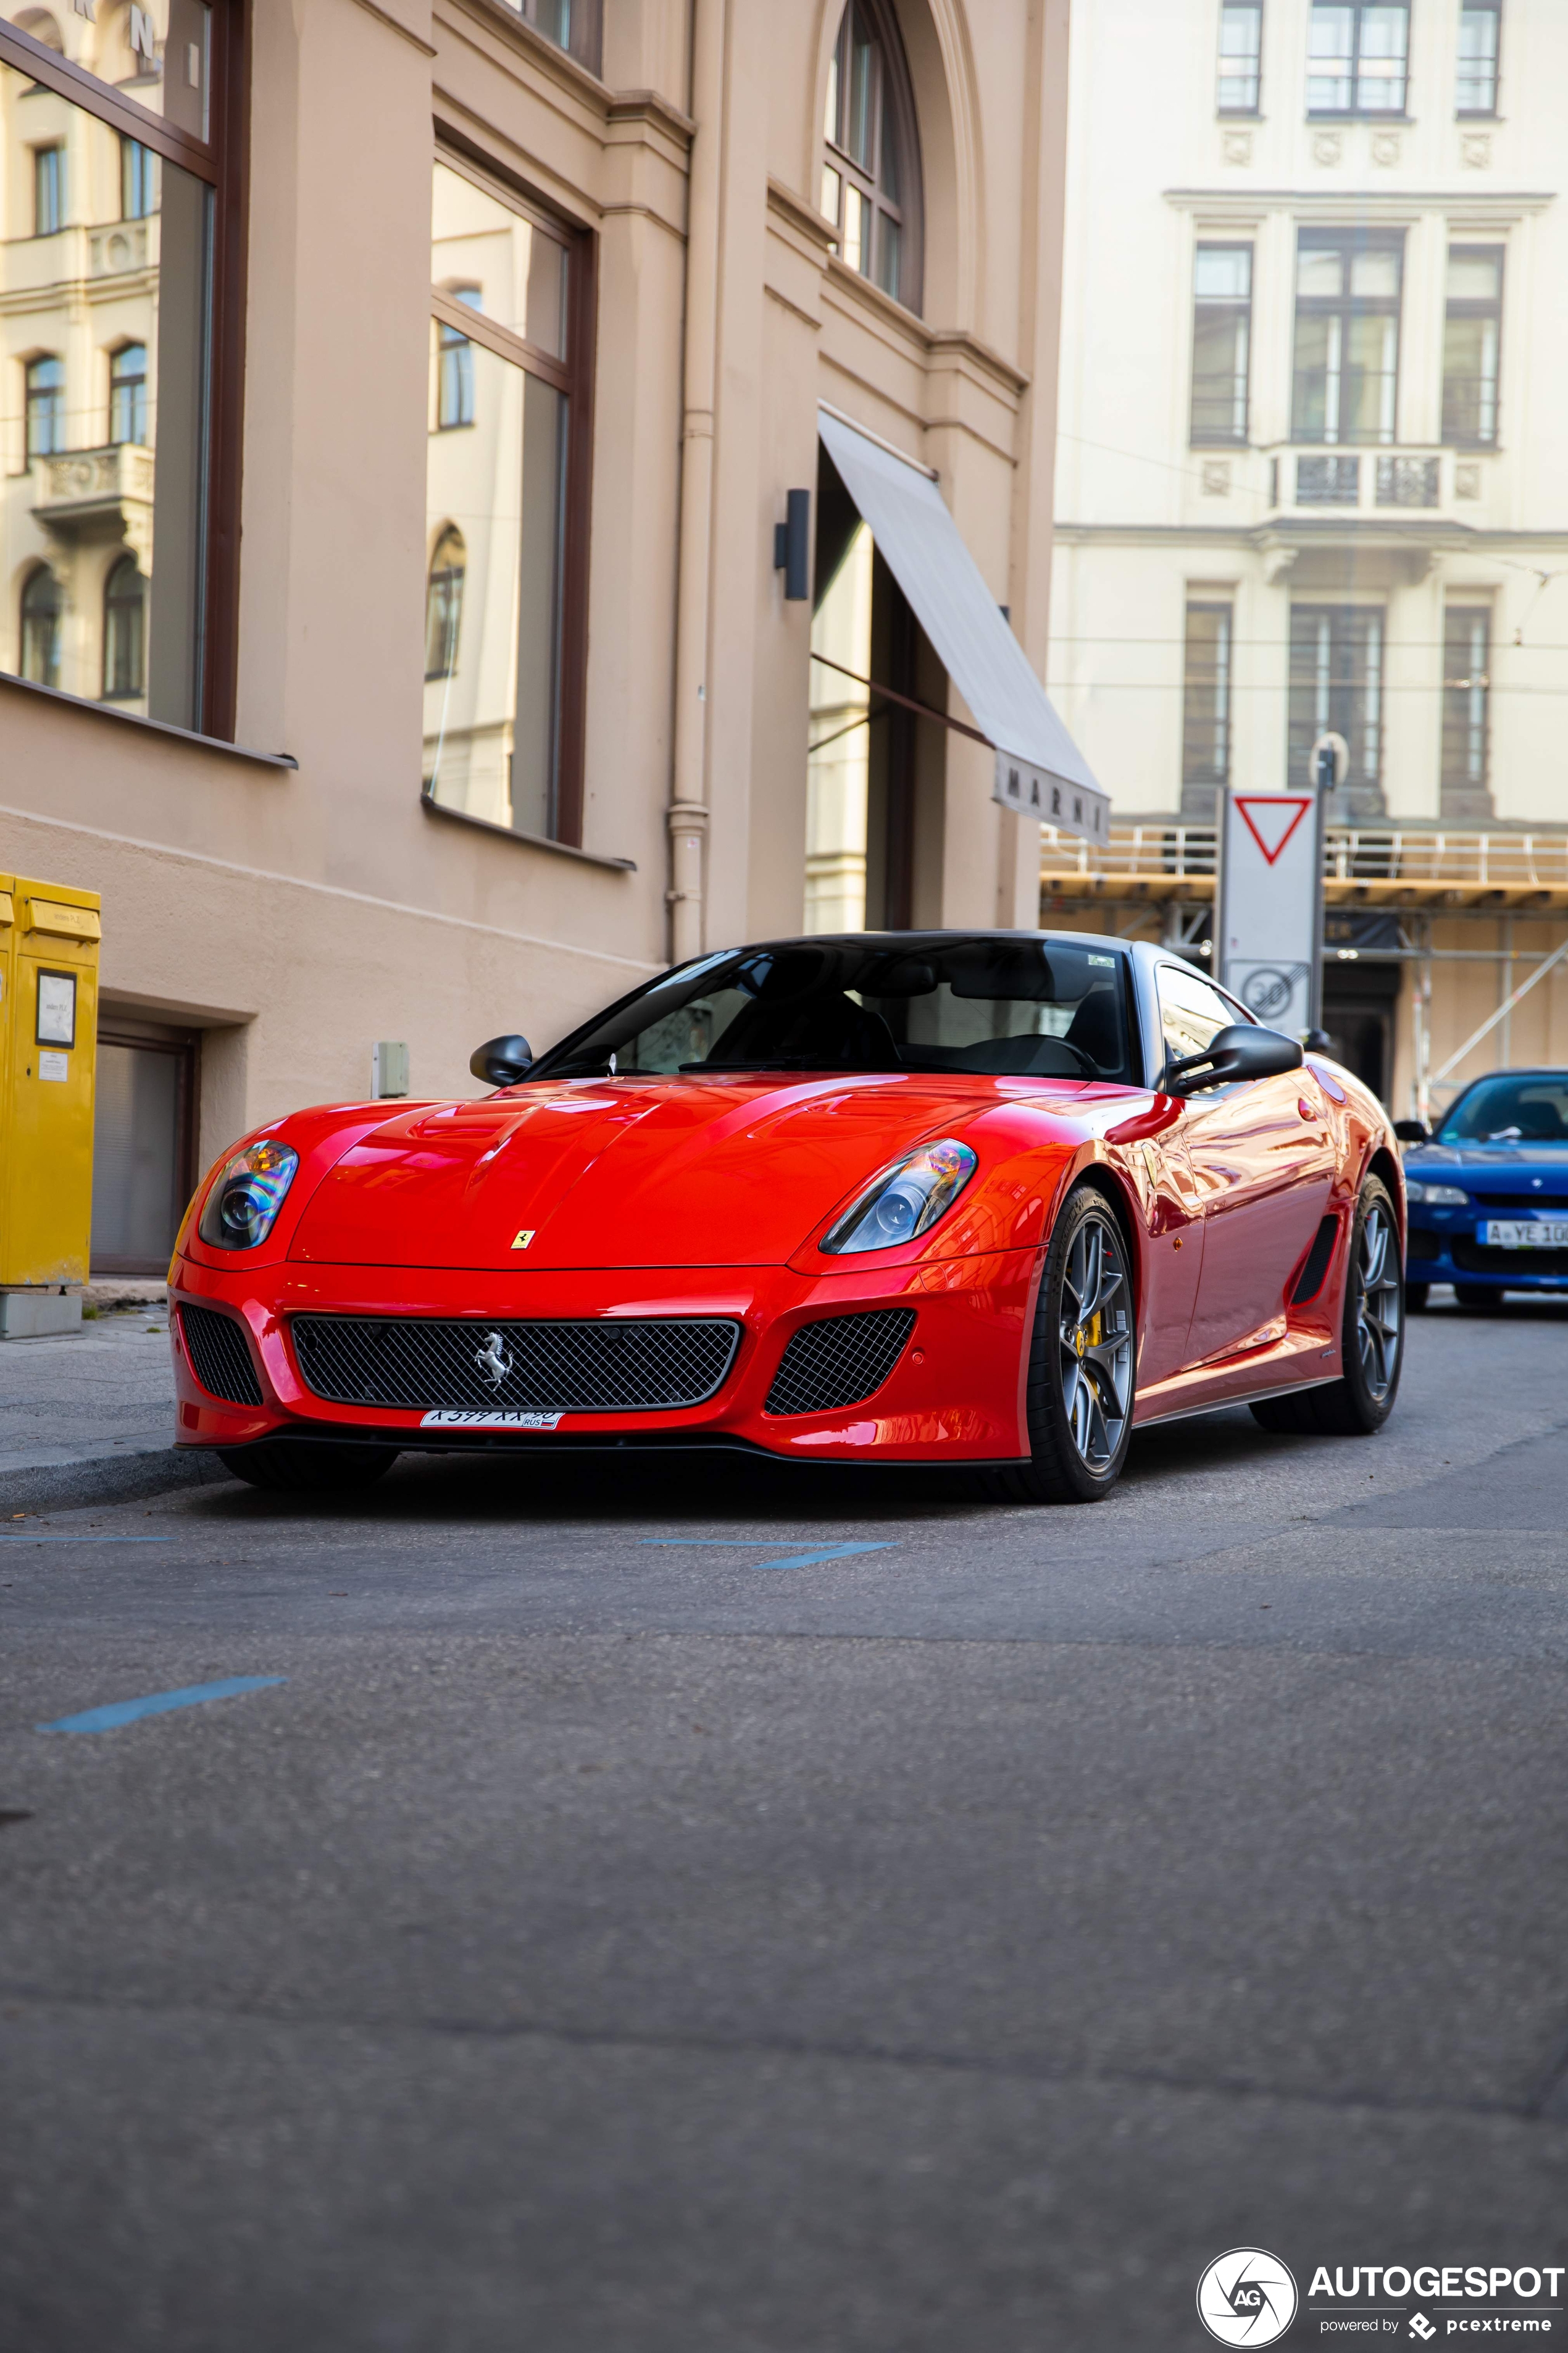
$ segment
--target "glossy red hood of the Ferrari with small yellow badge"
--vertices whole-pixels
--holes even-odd
[[[778,1266],[886,1160],[1025,1092],[1044,1089],[898,1075],[562,1080],[421,1106],[350,1144],[289,1257],[512,1273]]]

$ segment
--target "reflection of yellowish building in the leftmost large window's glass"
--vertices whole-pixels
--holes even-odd
[[[40,38],[24,12],[0,14]],[[96,21],[61,12],[56,28],[73,64],[174,115],[169,26],[202,73],[205,19],[179,0],[99,0]],[[9,66],[0,174],[0,381],[14,386],[0,409],[0,581],[16,600],[0,664],[200,727],[212,193]]]

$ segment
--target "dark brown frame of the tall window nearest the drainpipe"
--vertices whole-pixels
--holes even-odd
[[[541,35],[545,38],[545,35]],[[567,395],[567,466],[562,496],[562,584],[559,584],[559,671],[557,671],[557,734],[555,734],[555,833],[529,835],[512,828],[489,826],[440,802],[442,816],[458,824],[484,824],[487,831],[510,831],[512,840],[550,840],[567,849],[583,847],[583,769],[588,736],[588,553],[592,529],[592,393],[595,393],[595,327],[599,304],[599,240],[583,221],[559,212],[534,188],[524,186],[482,148],[473,146],[447,122],[435,125],[433,165],[447,165],[473,181],[484,195],[534,221],[548,235],[559,238],[571,256],[567,271],[567,358],[529,344],[498,320],[461,301],[449,287],[430,285],[430,318],[437,325],[456,327],[470,344],[482,344],[496,358],[522,367],[524,374],[541,376],[557,393]],[[447,428],[454,431],[454,428]],[[442,532],[447,525],[442,525]],[[468,534],[463,534],[468,539]],[[430,588],[430,562],[425,558],[425,595]],[[428,609],[425,609],[428,619]],[[421,652],[423,664],[423,652]],[[430,795],[423,795],[430,800]]]

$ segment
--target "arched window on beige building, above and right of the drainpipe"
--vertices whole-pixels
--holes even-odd
[[[839,259],[919,311],[919,134],[886,0],[849,0],[827,66],[823,212]]]

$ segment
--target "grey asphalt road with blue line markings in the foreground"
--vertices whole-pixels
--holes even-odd
[[[1081,1511],[7,1522],[0,2344],[1164,2353],[1227,2247],[1568,2261],[1566,1365],[1436,1311],[1378,1440]]]

